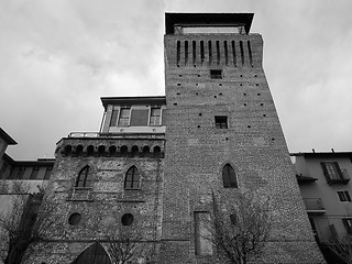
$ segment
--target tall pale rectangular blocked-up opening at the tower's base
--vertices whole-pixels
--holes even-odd
[[[196,255],[212,255],[209,212],[195,212]]]

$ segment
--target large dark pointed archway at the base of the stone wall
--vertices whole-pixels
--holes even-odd
[[[82,251],[72,264],[111,264],[107,251],[95,242]]]

